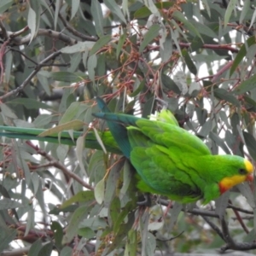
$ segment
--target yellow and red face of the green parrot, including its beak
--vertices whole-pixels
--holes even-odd
[[[232,170],[232,175],[222,178],[218,183],[221,194],[239,183],[253,181],[253,165],[249,160],[241,160],[239,157],[239,159],[237,159],[236,166],[230,166],[230,170]]]

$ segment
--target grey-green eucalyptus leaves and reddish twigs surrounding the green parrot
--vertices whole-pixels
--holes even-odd
[[[212,154],[256,160],[254,1],[1,0],[0,17],[1,125],[86,136],[106,128],[91,115],[95,96],[113,112],[143,117],[162,108],[160,99]],[[144,208],[118,155],[81,140],[0,145],[1,255],[256,248],[247,184],[206,207],[152,195]]]

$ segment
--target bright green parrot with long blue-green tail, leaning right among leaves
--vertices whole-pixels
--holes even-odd
[[[96,99],[109,131],[98,132],[108,152],[124,154],[140,177],[137,188],[143,192],[166,195],[173,201],[189,203],[202,200],[207,204],[236,184],[253,180],[253,165],[237,155],[212,155],[200,138],[177,124],[166,109],[154,119],[124,113],[111,113],[101,98]],[[0,126],[1,137],[36,139],[59,143],[58,135],[38,137],[45,130]],[[82,135],[75,131],[74,139]],[[61,143],[75,142],[67,131]],[[102,149],[96,134],[88,132],[85,147]]]

